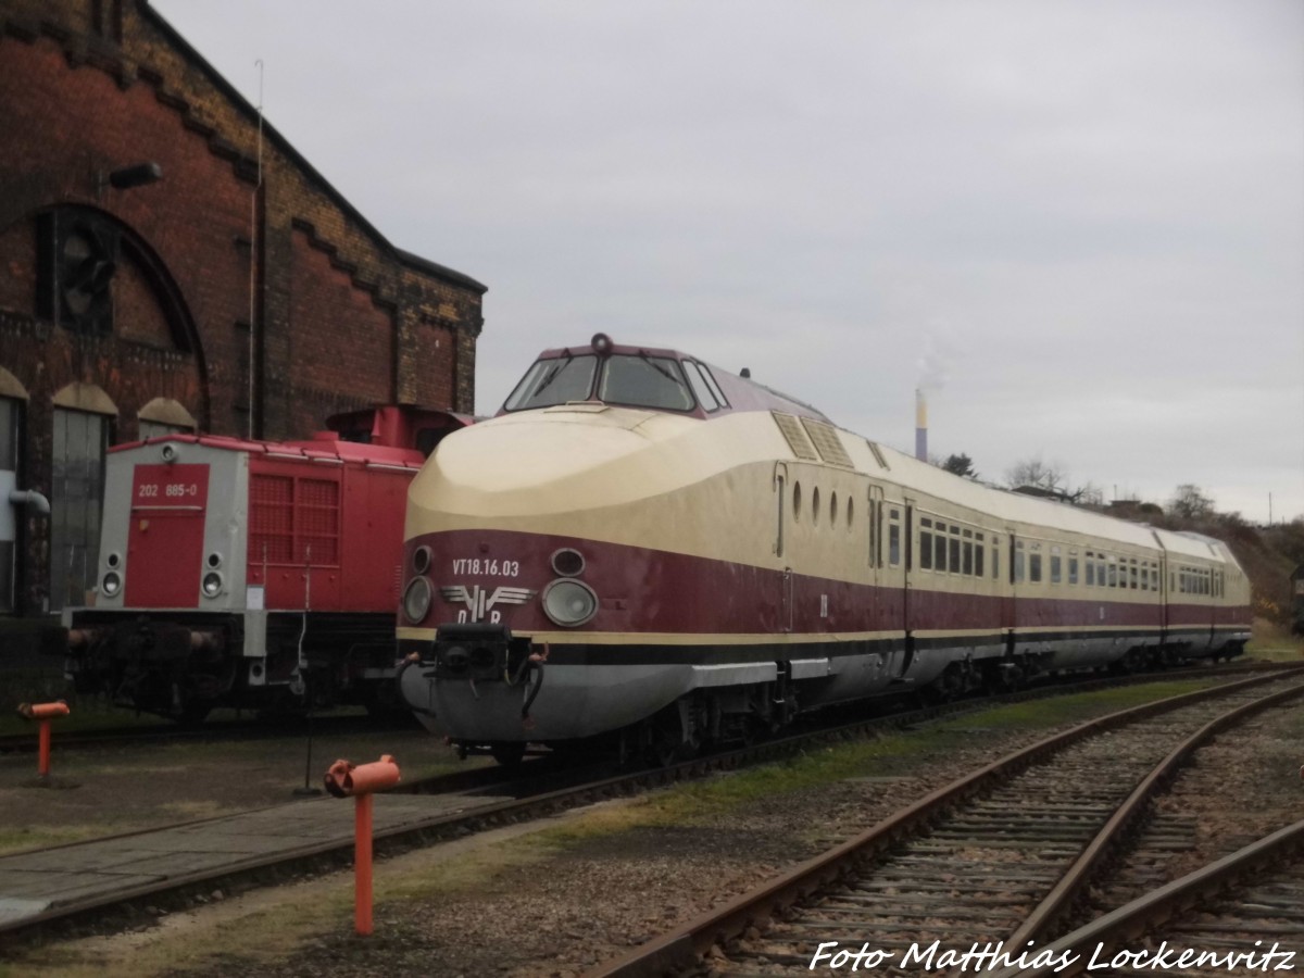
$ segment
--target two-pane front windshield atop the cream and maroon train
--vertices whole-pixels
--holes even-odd
[[[695,407],[679,361],[647,353],[619,353],[602,360],[592,355],[537,360],[503,407],[528,411],[589,399],[659,411]]]

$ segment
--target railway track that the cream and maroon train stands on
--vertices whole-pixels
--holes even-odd
[[[1202,672],[1184,670],[1176,675],[1192,678]],[[1281,670],[1269,670],[1267,675],[1270,677],[1277,672]],[[1209,673],[1221,678],[1231,675],[1226,669],[1209,670]],[[1153,681],[1153,677],[1149,681]],[[377,854],[406,852],[466,836],[472,832],[552,815],[566,808],[606,798],[630,795],[673,781],[700,777],[720,769],[732,769],[745,764],[792,756],[798,751],[810,748],[812,743],[845,741],[887,729],[909,728],[940,716],[988,708],[1003,702],[1078,692],[1118,685],[1120,679],[1091,681],[1077,683],[1068,689],[1063,686],[1038,687],[1037,690],[1007,694],[1005,696],[992,699],[958,702],[887,717],[859,720],[852,724],[841,724],[833,728],[818,729],[778,741],[754,745],[746,750],[699,758],[660,769],[617,772],[610,765],[596,768],[592,765],[583,768],[575,765],[567,767],[561,763],[553,763],[561,759],[541,758],[524,763],[518,772],[510,775],[505,773],[501,768],[482,768],[413,781],[404,784],[399,790],[386,794],[394,797],[402,794],[433,794],[439,795],[439,805],[428,816],[406,818],[402,820],[402,824],[389,828],[378,818],[374,848]],[[385,797],[382,795],[377,801],[381,803],[377,808],[379,816],[383,812]],[[291,805],[310,807],[291,810],[289,806],[276,806],[276,808],[266,810],[266,812],[275,812],[274,818],[286,824],[297,824],[303,818],[300,812],[319,814],[323,811],[319,805],[330,806],[331,802],[319,799],[319,803],[313,801],[293,802]],[[347,820],[347,812],[343,812],[343,807],[347,806],[336,805],[335,811],[344,815]],[[258,815],[258,812],[253,812],[253,815]],[[202,831],[203,825],[205,823],[202,822],[189,823],[173,827],[173,829],[193,832]],[[173,829],[163,829],[162,832],[171,832]],[[69,854],[76,855],[74,850],[83,846],[98,845],[103,848],[117,845],[130,848],[133,840],[142,835],[133,833],[132,836],[119,836],[89,844],[0,858],[0,879],[4,878],[7,866],[23,857],[35,857],[42,865],[51,866]],[[51,927],[59,927],[60,931],[64,931],[68,926],[81,928],[85,925],[100,928],[115,926],[115,921],[132,923],[141,918],[146,908],[154,908],[155,910],[160,908],[180,909],[192,902],[197,895],[211,892],[215,888],[226,892],[239,892],[258,885],[282,883],[287,879],[301,876],[305,872],[343,868],[351,863],[352,838],[348,831],[336,833],[331,838],[306,838],[308,835],[306,832],[304,833],[305,840],[287,838],[274,852],[257,858],[243,858],[239,861],[239,865],[231,861],[218,861],[185,872],[170,872],[166,879],[155,883],[121,885],[102,892],[87,893],[76,900],[51,905],[40,913],[29,914],[21,919],[5,921],[0,918],[0,941],[37,935]]]

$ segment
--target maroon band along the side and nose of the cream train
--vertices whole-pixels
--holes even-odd
[[[874,587],[754,567],[729,561],[668,553],[591,540],[498,529],[430,533],[406,544],[406,566],[417,546],[429,546],[429,578],[436,599],[426,625],[455,621],[467,602],[450,602],[445,587],[528,588],[541,592],[558,574],[552,554],[579,550],[585,566],[579,580],[597,593],[597,617],[576,630],[679,634],[829,634],[902,631],[906,627],[902,588]],[[996,631],[1001,629],[1159,629],[1158,604],[964,595],[931,591],[927,572],[915,574],[909,592],[911,630]],[[523,605],[497,605],[515,631],[552,631],[537,596]],[[1103,609],[1103,615],[1102,615]],[[1175,605],[1170,627],[1248,622],[1248,609]],[[1244,626],[1244,627],[1248,627]]]

